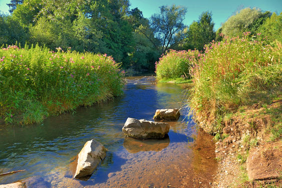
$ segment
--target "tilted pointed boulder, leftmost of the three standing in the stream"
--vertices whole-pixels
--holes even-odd
[[[94,139],[87,141],[78,154],[75,178],[91,175],[98,164],[106,157],[107,149]]]

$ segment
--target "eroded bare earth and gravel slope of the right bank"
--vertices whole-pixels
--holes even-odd
[[[279,99],[264,107],[246,106],[224,120],[228,136],[216,141],[218,168],[212,187],[280,187],[281,104]]]

